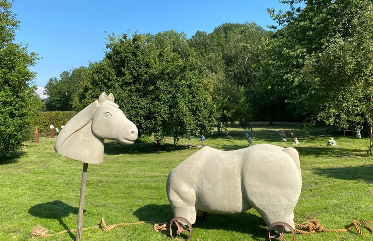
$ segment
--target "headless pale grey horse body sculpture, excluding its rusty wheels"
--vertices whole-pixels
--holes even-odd
[[[234,151],[203,147],[173,169],[167,196],[175,217],[195,223],[198,211],[239,214],[254,207],[268,226],[294,229],[301,193],[298,151],[257,144]]]

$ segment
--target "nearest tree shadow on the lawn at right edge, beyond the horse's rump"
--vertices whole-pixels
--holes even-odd
[[[353,167],[318,168],[314,171],[318,175],[342,180],[364,180],[373,183],[373,164]]]

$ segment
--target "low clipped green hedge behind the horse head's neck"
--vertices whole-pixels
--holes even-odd
[[[65,125],[76,113],[75,111],[40,111],[34,120],[34,127],[38,127],[39,137],[47,137],[50,135],[50,125],[61,131],[61,126]]]

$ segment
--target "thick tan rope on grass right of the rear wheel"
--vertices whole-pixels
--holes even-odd
[[[306,225],[304,224],[298,224],[295,223],[296,227],[306,229],[305,230],[300,230],[300,229],[294,229],[295,232],[300,233],[300,234],[309,234],[309,233],[315,233],[315,232],[336,232],[336,233],[342,233],[342,232],[348,232],[352,227],[356,229],[356,231],[366,237],[367,235],[364,234],[360,228],[366,228],[367,230],[371,231],[371,235],[373,235],[373,228],[368,226],[367,224],[373,224],[373,221],[364,221],[364,220],[354,220],[350,225],[347,226],[346,229],[326,229],[324,228],[324,225],[320,224],[320,222],[316,219],[309,221]]]

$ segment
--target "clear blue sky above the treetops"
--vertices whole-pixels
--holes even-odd
[[[275,22],[267,8],[288,9],[279,0],[14,0],[20,21],[16,42],[41,57],[30,69],[44,87],[63,71],[102,60],[106,33],[156,34],[167,30],[211,33],[223,23]]]

